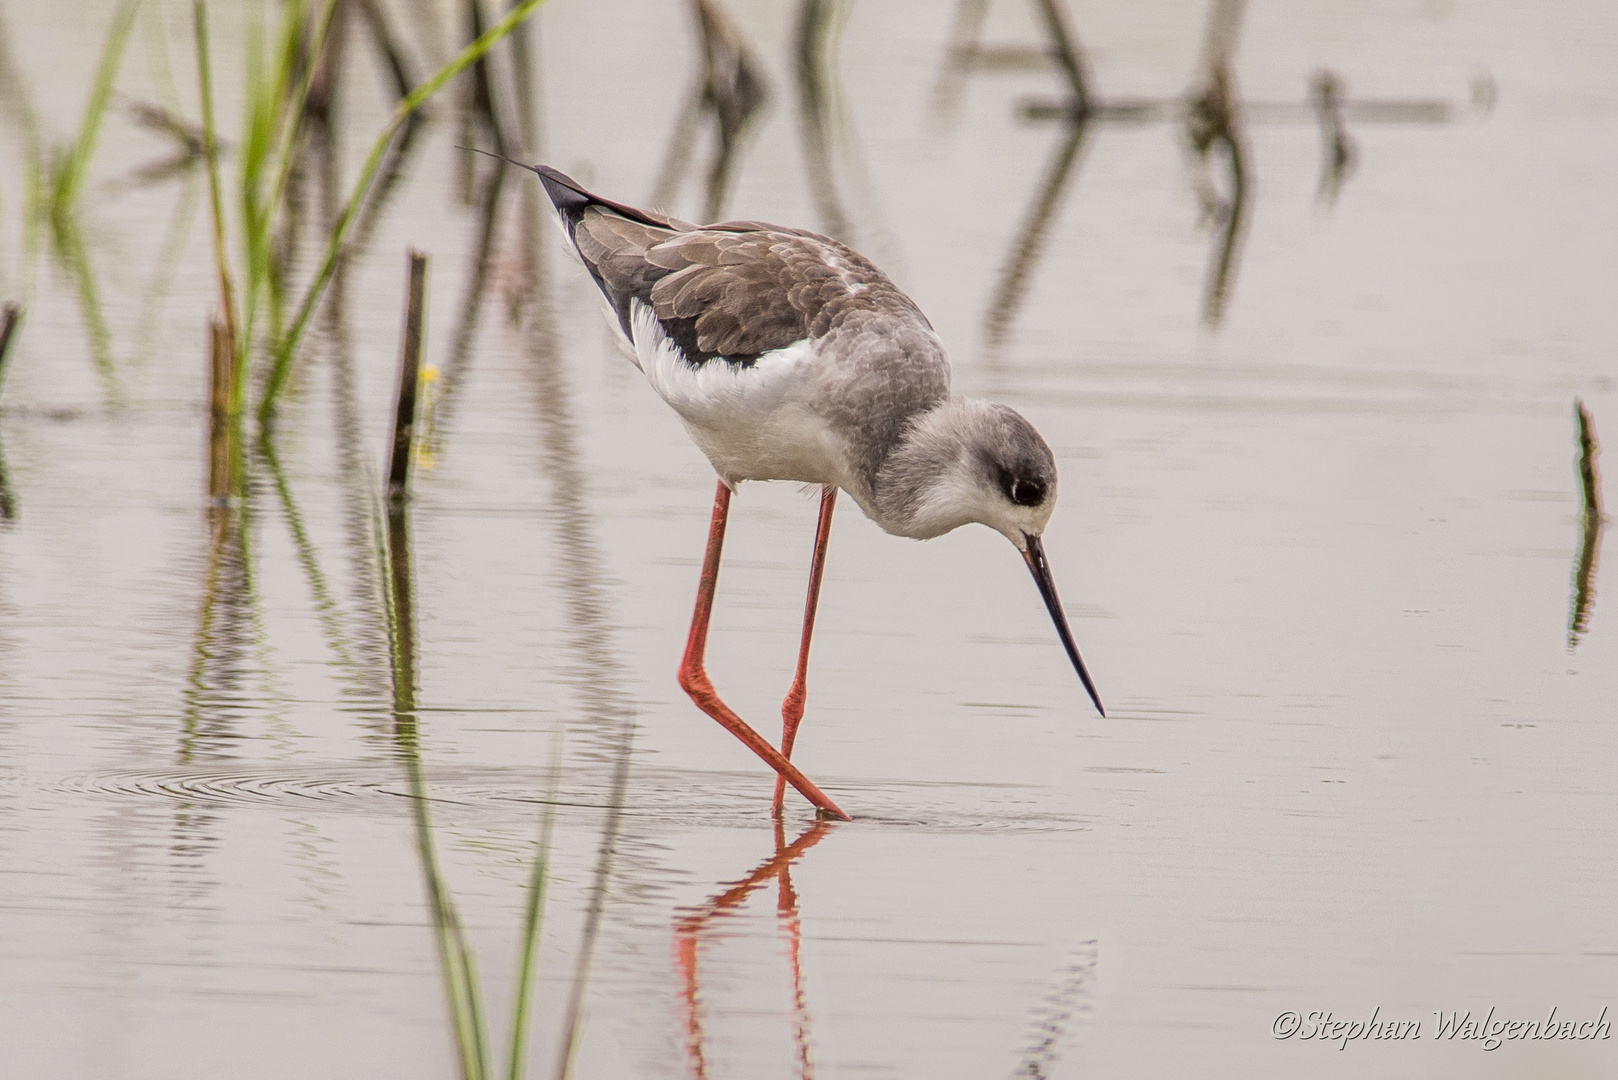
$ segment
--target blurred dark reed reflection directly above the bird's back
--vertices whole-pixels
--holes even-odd
[[[705,117],[714,128],[714,155],[704,185],[702,220],[715,222],[730,196],[743,141],[770,92],[757,55],[718,0],[691,0],[691,13],[702,49],[702,74],[675,120],[649,202],[667,209],[680,196]]]

